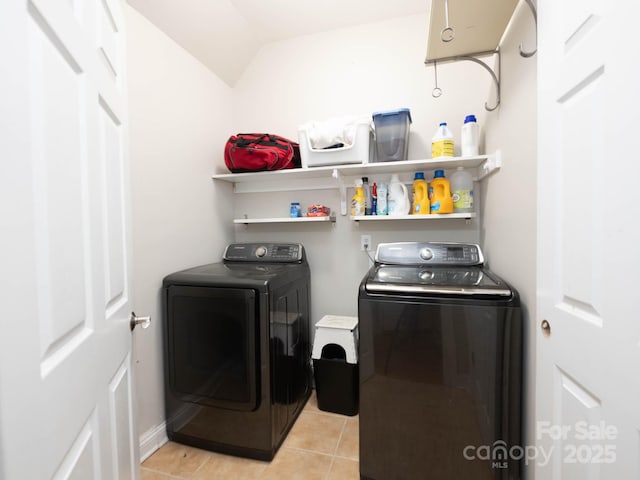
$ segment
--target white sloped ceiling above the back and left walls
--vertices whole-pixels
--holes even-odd
[[[266,43],[431,8],[431,0],[127,1],[230,86]]]

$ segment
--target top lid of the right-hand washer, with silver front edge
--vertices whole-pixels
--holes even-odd
[[[377,265],[365,281],[371,293],[511,297],[503,280],[482,267]]]

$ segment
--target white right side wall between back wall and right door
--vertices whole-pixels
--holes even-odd
[[[520,292],[525,311],[525,441],[535,445],[537,56],[535,23],[524,2],[516,10],[502,50],[502,105],[486,121],[489,149],[504,166],[483,183],[481,240],[491,268]],[[533,469],[527,471],[533,478]]]

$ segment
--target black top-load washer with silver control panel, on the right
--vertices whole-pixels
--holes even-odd
[[[380,244],[358,316],[361,478],[519,480],[520,301],[480,248]]]

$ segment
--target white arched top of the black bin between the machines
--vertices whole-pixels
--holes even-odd
[[[311,358],[322,358],[326,345],[339,345],[344,349],[347,363],[358,363],[358,317],[325,315],[316,323]]]

